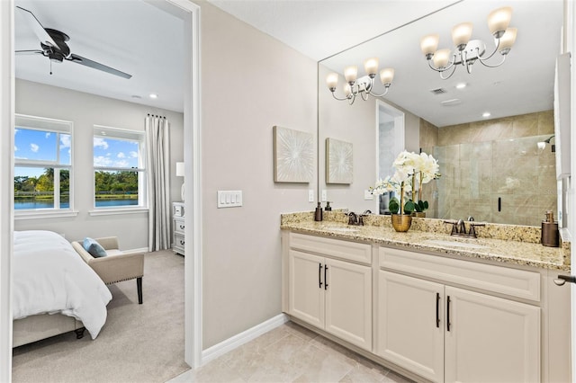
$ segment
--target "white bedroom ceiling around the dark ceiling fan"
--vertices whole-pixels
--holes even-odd
[[[16,77],[183,111],[184,22],[155,4],[140,0],[16,0],[16,5],[34,13],[44,28],[66,33],[72,53],[132,75],[125,79],[66,60],[52,64],[53,74],[49,75],[49,58],[16,55]],[[40,49],[20,11],[15,13],[16,50]],[[158,98],[151,100],[148,94]]]

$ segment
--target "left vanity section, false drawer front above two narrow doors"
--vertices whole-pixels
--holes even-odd
[[[291,234],[288,314],[372,351],[371,260],[370,245]]]

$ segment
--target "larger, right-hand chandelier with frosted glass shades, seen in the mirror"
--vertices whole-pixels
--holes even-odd
[[[450,49],[437,50],[439,40],[437,34],[422,38],[420,40],[420,49],[422,49],[422,53],[428,60],[428,66],[432,70],[439,72],[443,80],[454,75],[458,65],[464,66],[469,74],[472,73],[472,66],[476,60],[480,61],[485,67],[500,67],[506,60],[510,49],[512,49],[518,33],[516,28],[509,28],[511,18],[512,8],[509,6],[495,9],[488,15],[488,28],[494,37],[494,44],[496,45],[496,48],[488,56],[484,55],[486,53],[486,44],[482,40],[470,40],[473,30],[472,22],[460,23],[452,29],[452,40],[456,47],[454,51]],[[502,56],[500,63],[488,64],[487,60],[492,58],[496,52],[499,52]],[[452,69],[450,74],[445,76],[445,73],[450,71],[450,69]]]

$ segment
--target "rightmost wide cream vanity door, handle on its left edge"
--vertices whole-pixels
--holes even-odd
[[[540,308],[446,286],[446,382],[540,381]]]

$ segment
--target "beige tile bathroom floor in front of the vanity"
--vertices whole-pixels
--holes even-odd
[[[300,325],[288,322],[257,339],[170,380],[187,382],[409,383]]]

